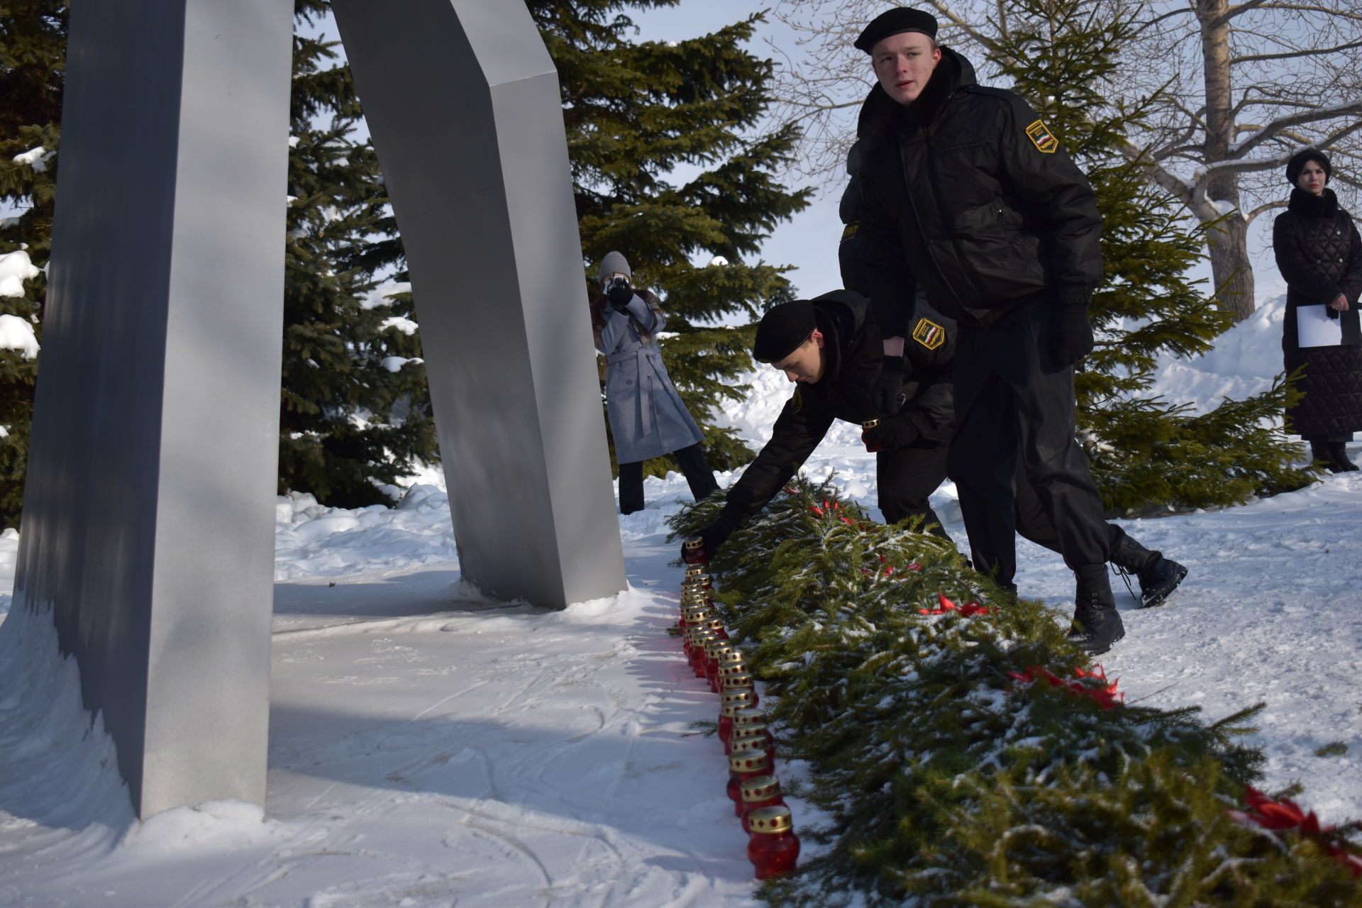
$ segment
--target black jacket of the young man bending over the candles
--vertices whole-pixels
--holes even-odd
[[[864,297],[834,290],[813,299],[813,314],[824,336],[827,370],[816,384],[801,384],[775,421],[771,441],[729,490],[723,516],[741,525],[765,506],[790,481],[834,419],[861,423],[878,415],[870,388],[880,374],[884,343],[869,320]],[[918,313],[918,339],[904,344],[906,403],[900,411],[921,433],[915,445],[944,445],[951,438],[951,357],[955,325],[936,313]]]

